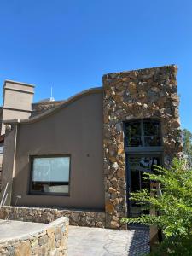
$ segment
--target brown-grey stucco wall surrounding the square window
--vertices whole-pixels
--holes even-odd
[[[104,208],[102,90],[77,97],[47,117],[19,124],[15,156],[17,205]],[[70,195],[28,195],[30,156],[71,154]]]

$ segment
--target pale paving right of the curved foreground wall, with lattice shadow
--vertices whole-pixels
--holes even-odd
[[[68,256],[136,256],[149,252],[145,228],[107,230],[69,227]]]

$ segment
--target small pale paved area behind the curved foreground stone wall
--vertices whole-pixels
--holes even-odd
[[[32,231],[43,228],[46,224],[34,222],[22,222],[15,220],[0,220],[0,241],[27,235]]]

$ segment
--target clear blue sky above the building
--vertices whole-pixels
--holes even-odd
[[[36,84],[35,102],[102,85],[102,75],[177,64],[192,131],[191,0],[2,0],[0,84]]]

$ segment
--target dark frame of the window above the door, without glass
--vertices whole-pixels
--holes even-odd
[[[158,122],[160,125],[160,146],[143,146],[144,145],[144,122],[148,121],[148,122]],[[126,125],[128,124],[133,124],[133,123],[140,123],[141,125],[141,141],[142,141],[142,146],[128,146],[127,145],[127,140],[126,140]],[[162,140],[162,131],[161,131],[161,123],[160,123],[160,119],[132,119],[130,121],[125,121],[124,122],[124,133],[125,133],[125,152],[129,152],[129,153],[140,153],[143,154],[143,152],[148,152],[148,153],[162,153],[163,151],[163,140]]]

